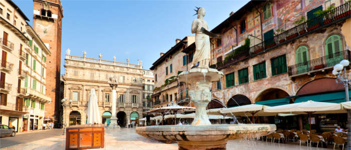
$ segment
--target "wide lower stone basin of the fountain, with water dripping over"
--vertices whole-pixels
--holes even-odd
[[[147,138],[178,142],[253,138],[275,130],[275,124],[153,125],[135,129],[139,135]]]

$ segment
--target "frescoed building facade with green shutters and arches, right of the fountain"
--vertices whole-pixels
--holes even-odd
[[[340,60],[350,60],[349,19],[350,2],[343,0],[252,0],[230,13],[211,30],[222,35],[211,39],[211,67],[225,76],[213,83],[209,107],[345,101],[345,89],[331,70]],[[323,119],[328,114],[314,115],[312,125],[344,126],[339,118],[345,115],[331,117],[334,122]],[[301,129],[307,119],[272,116],[255,122]]]

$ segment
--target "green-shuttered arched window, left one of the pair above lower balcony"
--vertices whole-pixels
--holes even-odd
[[[297,73],[308,72],[308,48],[300,46],[296,50]]]

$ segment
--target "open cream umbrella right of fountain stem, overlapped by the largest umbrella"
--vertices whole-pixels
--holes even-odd
[[[241,105],[231,108],[221,109],[220,112],[224,114],[233,114],[238,116],[252,116],[252,122],[255,123],[255,115],[256,116],[272,116],[276,115],[275,112],[264,112],[263,108],[267,107],[262,104],[247,104]]]

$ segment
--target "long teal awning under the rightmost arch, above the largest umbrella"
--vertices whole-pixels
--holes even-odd
[[[349,93],[348,95],[351,95],[350,90],[348,90],[348,93]],[[345,102],[346,101],[345,91],[299,96],[295,99],[294,103],[308,101],[308,100],[319,101],[319,102],[333,102],[333,103]]]

